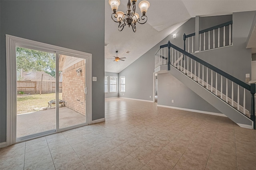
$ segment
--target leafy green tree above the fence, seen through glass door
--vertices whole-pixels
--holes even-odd
[[[49,52],[16,48],[17,71],[44,71],[55,77],[55,60],[55,54]]]

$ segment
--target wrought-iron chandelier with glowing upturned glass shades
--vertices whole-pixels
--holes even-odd
[[[139,3],[139,8],[142,13],[141,18],[139,14],[135,12],[136,2],[137,0],[128,0],[127,11],[126,11],[126,14],[124,14],[124,12],[122,11],[117,11],[118,6],[120,5],[120,0],[108,0],[108,3],[110,4],[111,9],[113,10],[111,18],[114,22],[119,23],[119,26],[118,26],[119,31],[122,31],[124,29],[124,26],[128,25],[129,27],[132,26],[133,32],[136,32],[137,22],[139,24],[145,24],[147,22],[148,17],[146,16],[146,12],[150,5],[149,2],[146,0],[142,0]]]

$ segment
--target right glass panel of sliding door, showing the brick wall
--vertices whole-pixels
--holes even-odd
[[[86,123],[86,60],[58,54],[59,128]]]

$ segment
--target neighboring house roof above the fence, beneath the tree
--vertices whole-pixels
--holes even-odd
[[[55,78],[46,72],[22,72],[22,80],[38,80],[41,81],[43,75],[43,80],[54,80]]]

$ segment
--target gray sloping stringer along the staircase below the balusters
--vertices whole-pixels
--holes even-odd
[[[160,70],[165,70],[167,66],[160,66]],[[212,94],[209,90],[192,80],[190,77],[186,76],[184,73],[180,72],[180,70],[176,69],[174,66],[170,65],[170,71],[167,70],[168,73],[172,74],[175,78],[180,80],[185,86],[190,88],[190,90],[194,91],[201,98],[206,100],[209,104],[214,106],[220,112],[225,114],[228,118],[230,118],[233,122],[238,124],[239,126],[250,126],[253,127],[253,121],[250,120],[247,116],[224,102],[222,99],[218,98],[218,96]]]

